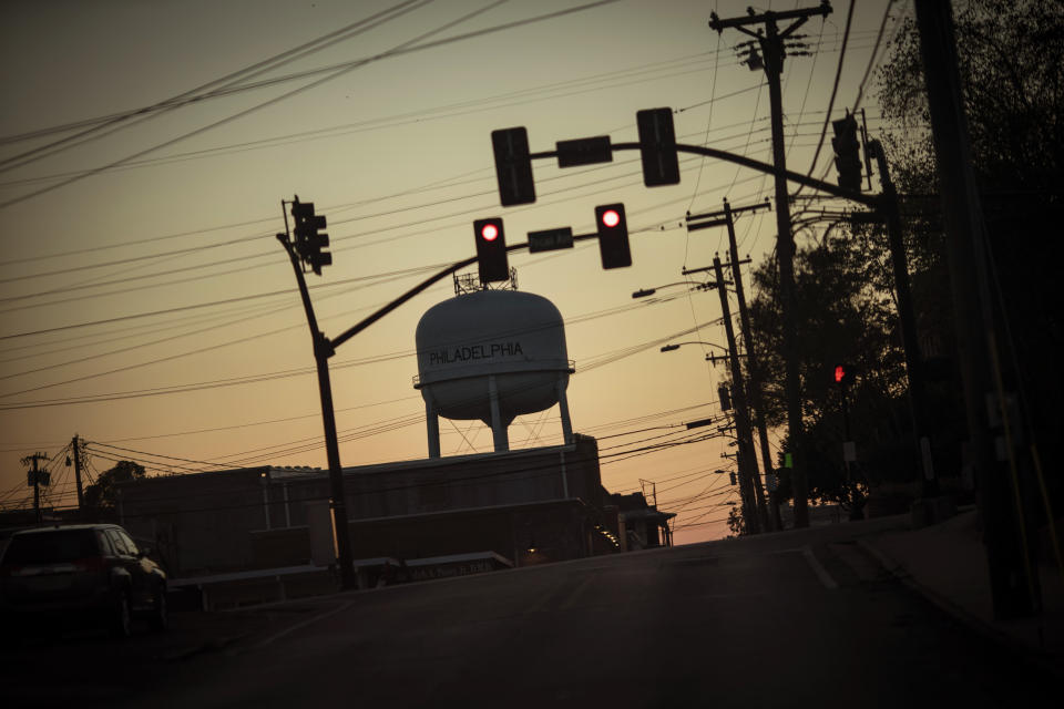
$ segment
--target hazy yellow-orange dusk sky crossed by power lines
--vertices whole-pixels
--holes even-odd
[[[874,69],[912,12],[857,3],[843,53],[851,3],[835,4],[798,30],[809,55],[787,59],[782,85],[788,167],[831,181],[830,127],[814,164],[825,120],[863,109],[879,134]],[[712,431],[686,422],[720,414],[726,373],[704,356],[725,343],[722,308],[681,271],[724,257],[727,234],[688,233],[684,217],[724,198],[771,198],[771,181],[682,155],[681,184],[647,188],[638,154],[618,151],[577,168],[536,161],[535,204],[503,208],[490,138],[525,126],[532,151],[595,135],[635,141],[637,111],[671,107],[681,143],[770,162],[764,72],[737,55],[748,37],[708,28],[710,11],[743,17],[747,4],[9,0],[0,505],[31,504],[21,459],[34,452],[52,472],[45,504],[73,504],[74,435],[88,442],[90,479],[119,460],[150,474],[326,466],[306,318],[275,238],[284,199],[298,195],[328,219],[332,266],[307,278],[331,337],[472,256],[474,219],[502,217],[516,243],[560,226],[591,233],[595,206],[622,202],[632,267],[603,270],[593,242],[519,251],[510,265],[520,290],[565,318],[573,427],[598,439],[606,489],[656,490],[658,506],[678,513],[677,543],[726,536],[738,494],[716,471],[734,470],[722,458],[734,449],[723,436],[684,442]],[[775,234],[771,213],[741,217],[739,253],[759,266]],[[453,295],[441,281],[331,358],[345,466],[427,455],[413,333]],[[666,342],[690,345],[663,353]],[[492,450],[482,423],[440,423],[443,455]],[[510,429],[512,448],[561,439],[556,407]],[[645,450],[658,443],[675,444]]]

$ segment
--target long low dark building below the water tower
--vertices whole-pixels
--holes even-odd
[[[595,439],[344,471],[356,559],[490,553],[514,566],[623,551]],[[119,513],[176,577],[331,559],[327,471],[248,467],[123,484]]]

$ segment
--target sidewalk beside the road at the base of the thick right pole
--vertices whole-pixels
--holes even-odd
[[[1064,578],[1056,565],[1040,564],[1042,614],[995,620],[986,553],[974,510],[920,530],[870,536],[859,544],[932,603],[978,630],[1029,653],[1064,676]],[[1034,559],[1032,559],[1034,563]]]

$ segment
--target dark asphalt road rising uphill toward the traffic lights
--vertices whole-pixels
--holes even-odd
[[[835,525],[274,607],[239,641],[134,660],[137,681],[63,706],[1016,707],[1060,698],[1057,678],[867,557],[855,537],[876,530]]]

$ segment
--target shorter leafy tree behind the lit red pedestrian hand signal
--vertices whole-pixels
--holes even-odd
[[[797,358],[801,379],[809,496],[814,502],[861,504],[870,483],[911,476],[902,460],[911,448],[906,383],[897,316],[882,286],[889,273],[886,237],[840,225],[836,236],[798,249],[792,311],[802,323]],[[781,319],[774,265],[754,274],[758,296],[750,307],[754,337],[764,356],[766,418],[785,419]],[[846,422],[838,363],[860,376],[848,388],[850,439],[859,443],[859,465],[842,460]],[[785,440],[785,450],[788,445]],[[908,448],[907,448],[908,446]],[[779,466],[780,494],[791,496],[789,470]]]

